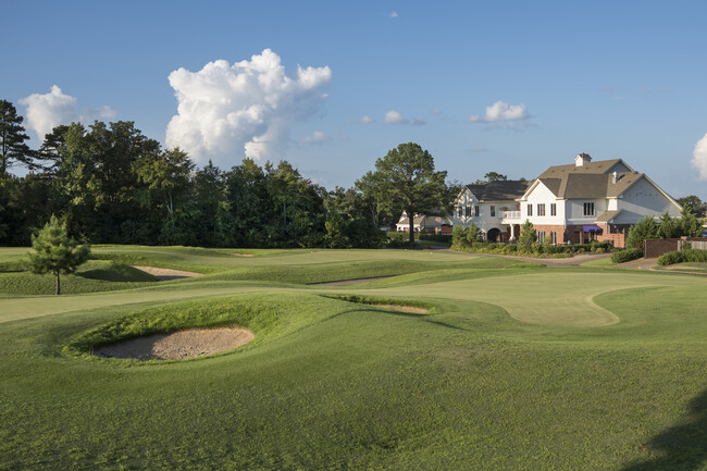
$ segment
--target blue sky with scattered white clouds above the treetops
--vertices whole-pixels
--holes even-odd
[[[462,183],[488,171],[532,178],[587,152],[625,160],[675,197],[707,199],[704,1],[27,0],[2,10],[0,98],[25,116],[35,107],[38,129],[135,121],[224,169],[255,141],[261,159],[289,160],[327,188],[350,186],[406,141]],[[284,66],[280,85],[234,89],[266,49]],[[225,66],[200,72],[218,60]],[[298,65],[311,76],[298,79]],[[53,85],[60,99],[42,98]],[[184,137],[198,125],[215,134]]]

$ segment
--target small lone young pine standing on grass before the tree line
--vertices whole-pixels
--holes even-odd
[[[53,273],[57,276],[57,296],[61,294],[60,273],[74,273],[88,260],[90,246],[78,245],[69,236],[66,223],[51,215],[49,222],[32,236],[34,252],[29,253],[29,268],[33,273]]]

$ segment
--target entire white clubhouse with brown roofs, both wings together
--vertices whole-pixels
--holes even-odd
[[[609,240],[623,247],[628,228],[645,215],[681,206],[654,181],[621,159],[592,162],[580,153],[573,164],[555,165],[532,182],[468,185],[457,197],[454,223],[476,224],[488,240],[513,240],[530,221],[544,244]]]

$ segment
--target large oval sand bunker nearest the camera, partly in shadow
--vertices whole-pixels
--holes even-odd
[[[244,327],[190,329],[108,345],[99,348],[96,355],[138,360],[179,360],[231,350],[253,338],[255,334]]]

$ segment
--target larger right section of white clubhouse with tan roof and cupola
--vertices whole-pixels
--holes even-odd
[[[627,230],[645,215],[666,211],[680,215],[681,206],[643,173],[621,159],[592,162],[580,153],[574,164],[550,166],[518,199],[520,213],[507,218],[533,223],[545,244],[609,240],[624,246]]]

